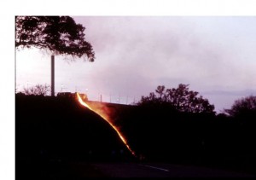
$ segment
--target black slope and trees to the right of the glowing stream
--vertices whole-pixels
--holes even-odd
[[[177,89],[179,87],[188,92],[186,85],[180,84]],[[176,91],[172,89],[174,95]],[[166,101],[166,92],[164,86],[158,86],[157,95],[150,93],[148,97],[142,97],[137,106],[127,107],[119,113],[118,122],[137,154],[142,154],[148,161],[255,173],[255,109],[246,111],[242,108],[237,116],[216,115],[207,100],[205,111],[197,111],[193,106],[192,109],[189,106],[181,108]],[[180,95],[173,99],[182,99]],[[246,100],[252,102],[253,98]],[[237,104],[240,103],[235,102]]]

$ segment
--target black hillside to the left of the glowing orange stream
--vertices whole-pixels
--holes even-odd
[[[47,178],[71,162],[133,158],[112,127],[73,98],[20,94],[15,102],[17,179]]]

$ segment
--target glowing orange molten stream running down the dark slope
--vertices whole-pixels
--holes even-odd
[[[108,122],[108,124],[113,127],[114,131],[116,131],[116,132],[118,133],[118,135],[119,135],[120,139],[122,140],[122,142],[125,143],[126,148],[129,149],[129,151],[131,152],[131,154],[133,154],[134,156],[136,156],[135,152],[132,151],[131,148],[130,148],[130,146],[128,145],[128,143],[127,143],[125,137],[121,134],[121,132],[118,130],[118,128],[110,122],[110,120],[108,119],[108,116],[107,116],[106,114],[104,114],[104,113],[101,113],[101,112],[98,111],[97,109],[93,109],[93,108],[90,107],[88,104],[86,104],[86,103],[82,100],[82,98],[81,98],[81,96],[79,95],[79,93],[77,93],[77,96],[78,96],[78,98],[79,98],[79,102],[80,102],[84,107],[87,107],[87,108],[89,108],[91,111],[93,111],[93,112],[99,114],[99,115],[102,117],[102,119],[105,119],[105,120]]]

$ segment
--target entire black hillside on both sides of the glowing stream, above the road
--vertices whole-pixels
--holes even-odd
[[[166,92],[162,86],[157,89],[156,101],[107,105],[114,109],[113,123],[120,127],[139,160],[256,174],[256,122],[255,116],[247,115],[247,106],[232,115],[181,111],[166,102],[161,92]],[[67,95],[16,94],[16,176],[20,179],[38,174],[43,179],[57,172],[58,176],[73,178],[78,176],[72,171],[73,162],[135,160],[104,120],[81,107],[72,94]],[[252,102],[254,97],[236,101],[234,106],[244,101]],[[254,107],[248,108],[255,115]]]

